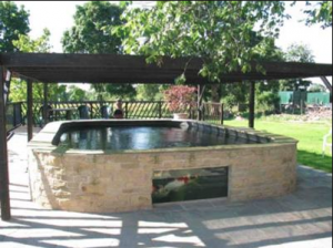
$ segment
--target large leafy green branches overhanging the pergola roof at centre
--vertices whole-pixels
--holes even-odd
[[[222,73],[249,72],[250,62],[264,56],[264,46],[283,24],[284,6],[283,1],[159,1],[150,10],[129,9],[119,31],[125,34],[125,53],[144,54],[148,62],[158,63],[164,55],[200,56],[201,75],[219,82]],[[180,75],[178,82],[183,81]]]

